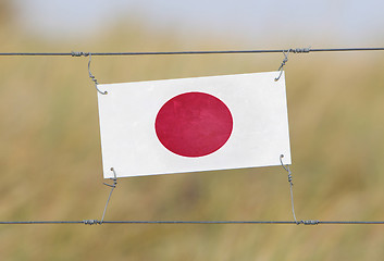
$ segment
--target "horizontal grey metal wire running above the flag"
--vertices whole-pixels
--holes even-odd
[[[309,53],[309,52],[343,52],[343,51],[384,51],[384,47],[372,48],[296,48],[274,50],[222,50],[222,51],[159,51],[159,52],[0,52],[2,57],[88,57],[91,55],[186,55],[186,54],[241,54],[241,53]]]

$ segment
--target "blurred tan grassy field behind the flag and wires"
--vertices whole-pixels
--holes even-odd
[[[139,15],[83,38],[58,32],[49,37],[21,26],[17,12],[11,1],[1,1],[0,52],[275,49],[306,47],[311,40],[292,36],[258,45],[248,36],[208,30],[185,37],[174,25],[154,30]],[[383,47],[380,37],[367,42]],[[344,44],[321,38],[314,38],[319,46],[312,44],[313,48]],[[355,44],[345,42],[342,47]],[[121,83],[275,71],[282,59],[283,54],[95,57],[91,71],[100,83]],[[383,52],[289,57],[286,86],[299,220],[384,220],[383,63]],[[97,96],[87,73],[87,58],[0,58],[1,221],[101,219],[109,188],[102,185]],[[106,216],[292,219],[287,176],[280,166],[121,178]],[[383,229],[1,225],[0,259],[382,260]]]

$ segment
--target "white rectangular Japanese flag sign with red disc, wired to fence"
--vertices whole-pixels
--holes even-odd
[[[104,178],[290,164],[276,74],[99,85]]]

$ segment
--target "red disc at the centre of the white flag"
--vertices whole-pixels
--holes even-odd
[[[156,117],[156,134],[173,153],[202,157],[220,149],[233,129],[231,111],[223,101],[203,92],[173,97]]]

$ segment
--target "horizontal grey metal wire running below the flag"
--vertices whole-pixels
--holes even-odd
[[[384,221],[98,221],[98,220],[84,220],[84,221],[1,221],[0,225],[40,225],[40,224],[285,224],[285,225],[384,225]]]

